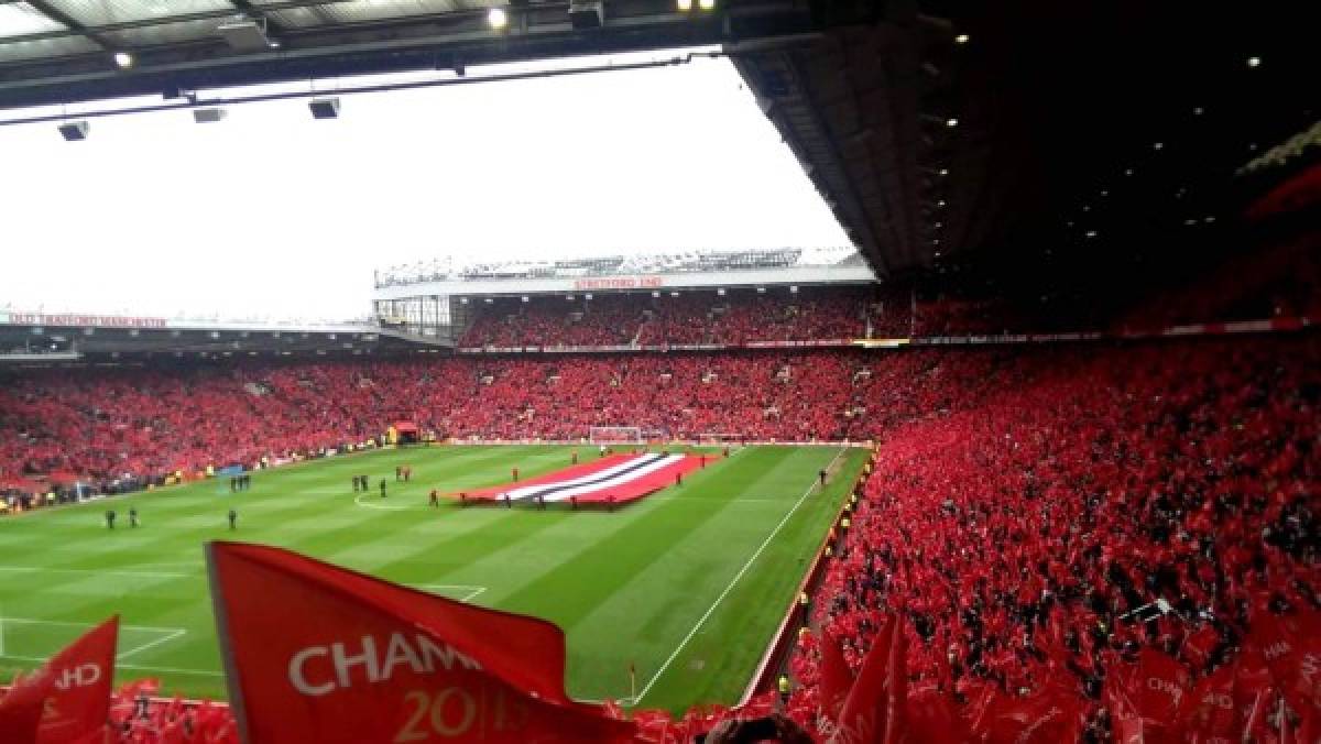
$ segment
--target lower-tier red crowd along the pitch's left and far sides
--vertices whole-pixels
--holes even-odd
[[[252,466],[361,443],[398,419],[487,440],[573,440],[592,426],[859,440],[939,410],[947,394],[921,382],[968,363],[923,353],[744,352],[20,373],[0,387],[0,478]]]

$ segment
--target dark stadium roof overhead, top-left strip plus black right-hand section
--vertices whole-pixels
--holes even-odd
[[[0,0],[0,108],[723,45],[878,275],[1022,254],[1037,281],[1214,239],[1234,170],[1317,114],[1299,3],[602,0],[592,28],[597,3],[518,0],[503,29],[493,4]],[[238,16],[273,45],[227,42]]]

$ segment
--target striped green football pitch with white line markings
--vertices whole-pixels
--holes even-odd
[[[386,449],[258,472],[247,493],[218,478],[0,518],[0,678],[118,612],[122,679],[223,698],[202,543],[238,539],[551,620],[568,637],[567,685],[581,699],[633,695],[631,663],[642,707],[736,702],[865,452],[750,447],[613,513],[427,505],[432,488],[568,466],[572,449]],[[413,468],[410,484],[395,482],[399,464]],[[824,489],[822,468],[832,472]],[[353,493],[354,474],[370,476],[369,496]],[[108,507],[119,513],[112,531]]]

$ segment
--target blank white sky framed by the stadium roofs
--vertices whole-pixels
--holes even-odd
[[[336,120],[293,99],[81,143],[0,127],[0,309],[350,318],[373,268],[444,255],[848,244],[741,83],[701,58],[345,96]]]

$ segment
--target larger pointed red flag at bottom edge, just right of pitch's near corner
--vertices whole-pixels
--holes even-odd
[[[908,644],[898,616],[888,614],[863,661],[831,744],[892,744],[904,728]]]

